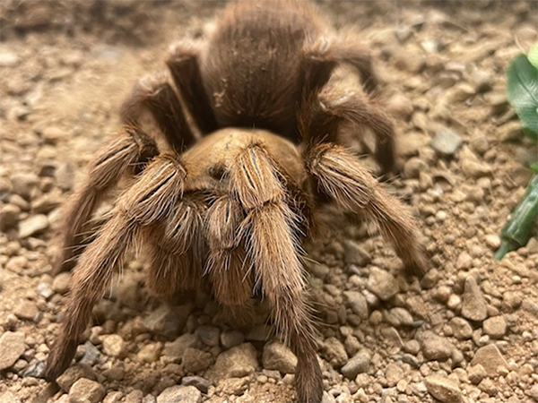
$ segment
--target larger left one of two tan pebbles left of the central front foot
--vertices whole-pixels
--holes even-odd
[[[241,378],[256,371],[256,348],[250,343],[243,343],[222,352],[213,365],[215,379]]]

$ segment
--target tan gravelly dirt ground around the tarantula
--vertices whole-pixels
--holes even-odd
[[[538,159],[504,96],[509,61],[538,40],[538,6],[318,3],[375,56],[403,165],[387,187],[415,212],[432,267],[421,281],[404,279],[377,231],[351,224],[309,251],[324,403],[538,401],[538,239],[492,260]],[[213,326],[214,304],[200,297],[172,325],[166,315],[155,325],[163,311],[146,304],[136,261],[95,310],[77,353],[83,375],[57,391],[39,379],[69,281],[48,275],[60,206],[117,129],[133,82],[164,68],[170,42],[203,37],[223,4],[0,2],[0,402],[180,401],[161,392],[187,374],[201,377],[204,393],[183,401],[294,401],[293,375],[262,356],[262,324],[239,336]],[[202,339],[188,351],[207,364],[167,355],[182,333]],[[204,339],[215,334],[216,344]],[[256,347],[257,364],[219,378],[213,365],[232,335]],[[97,394],[71,387],[81,376]]]

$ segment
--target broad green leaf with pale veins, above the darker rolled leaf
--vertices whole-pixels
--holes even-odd
[[[525,55],[508,67],[508,101],[516,109],[525,133],[538,141],[538,70]]]

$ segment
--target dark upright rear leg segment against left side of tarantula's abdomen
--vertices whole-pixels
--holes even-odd
[[[200,132],[207,134],[217,130],[217,120],[204,90],[199,49],[194,44],[178,43],[171,48],[166,63],[181,98],[190,110]]]

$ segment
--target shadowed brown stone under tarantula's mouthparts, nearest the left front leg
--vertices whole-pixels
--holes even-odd
[[[187,317],[192,312],[192,304],[169,306],[162,304],[143,320],[144,326],[153,333],[173,338],[187,324]]]

